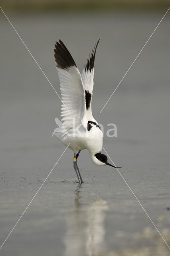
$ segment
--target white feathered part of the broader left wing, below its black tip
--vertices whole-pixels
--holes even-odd
[[[76,66],[67,69],[57,67],[61,89],[61,116],[67,131],[83,124],[86,128],[85,90],[80,72]]]

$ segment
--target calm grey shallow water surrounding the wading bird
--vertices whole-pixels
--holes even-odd
[[[93,113],[104,148],[170,245],[169,14],[103,110],[163,14],[11,16],[16,30],[59,93],[53,44],[61,38],[83,68],[95,61]],[[65,147],[51,134],[60,100],[1,14],[0,244]],[[84,60],[84,61],[83,61]],[[117,138],[106,136],[117,125]],[[79,186],[69,149],[1,249],[2,255],[169,255],[169,249],[125,181],[109,166],[79,156]]]

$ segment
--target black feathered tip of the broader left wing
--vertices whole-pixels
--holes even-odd
[[[70,66],[76,66],[73,57],[60,39],[59,43],[56,42],[55,44],[54,52],[55,62],[58,68],[65,69],[69,68]]]

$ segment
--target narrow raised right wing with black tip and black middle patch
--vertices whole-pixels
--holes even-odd
[[[100,40],[100,38],[99,38]],[[92,110],[91,110],[91,100],[93,95],[93,77],[94,77],[94,63],[95,63],[95,54],[96,49],[99,44],[99,40],[97,41],[97,44],[93,48],[91,55],[89,55],[89,58],[87,59],[87,63],[83,69],[83,72],[81,74],[81,78],[83,81],[83,86],[85,88],[85,100],[86,100],[86,109],[87,109],[87,120],[96,122],[97,121],[93,118]]]

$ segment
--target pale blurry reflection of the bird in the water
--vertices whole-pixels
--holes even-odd
[[[95,198],[94,198],[95,197]],[[75,207],[66,217],[65,256],[98,256],[105,249],[107,201],[96,195],[84,196],[82,185],[75,190]]]

